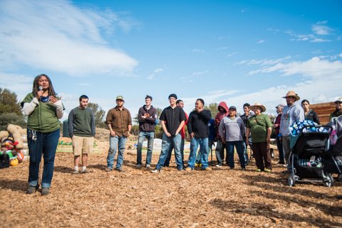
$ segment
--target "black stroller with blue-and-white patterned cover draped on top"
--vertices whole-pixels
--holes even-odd
[[[324,170],[322,158],[328,151],[331,126],[318,126],[314,121],[299,121],[290,127],[289,186],[296,182],[322,182],[333,185],[331,173]]]

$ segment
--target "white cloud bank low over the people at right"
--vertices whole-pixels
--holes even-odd
[[[237,111],[242,113],[242,104],[249,102],[254,104],[261,102],[266,107],[266,112],[275,113],[277,104],[285,104],[284,95],[289,90],[294,90],[301,99],[309,99],[311,104],[321,102],[331,102],[336,97],[341,97],[342,85],[342,62],[329,61],[318,57],[311,58],[306,61],[292,61],[290,63],[277,63],[274,61],[273,65],[262,65],[264,60],[255,60],[259,63],[260,69],[253,70],[250,75],[257,74],[271,74],[283,75],[286,77],[299,75],[296,81],[290,85],[279,85],[276,87],[269,87],[253,92],[241,93],[238,91],[219,90],[209,94],[205,97],[208,103],[219,102],[224,100],[228,105],[235,105]],[[249,61],[244,60],[244,64]],[[257,77],[257,76],[255,76]],[[278,76],[275,76],[278,77]],[[189,98],[188,101],[193,101],[194,98]],[[205,100],[205,99],[204,99]],[[191,110],[191,109],[190,109]]]

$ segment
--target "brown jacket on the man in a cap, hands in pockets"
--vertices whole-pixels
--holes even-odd
[[[115,131],[115,134],[119,137],[128,137],[128,126],[132,125],[132,117],[130,116],[130,111],[128,111],[128,109],[125,109],[125,107],[123,107],[123,110],[121,111],[120,109],[118,109],[118,107],[110,109],[108,111],[105,124],[110,124],[113,131]]]

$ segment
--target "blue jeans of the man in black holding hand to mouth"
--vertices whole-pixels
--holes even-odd
[[[195,160],[196,160],[196,153],[197,148],[199,145],[199,151],[202,152],[201,155],[201,163],[202,163],[202,169],[208,167],[208,138],[204,139],[198,139],[198,138],[192,138],[190,142],[190,156],[189,160],[187,161],[187,166],[194,169],[195,168]]]

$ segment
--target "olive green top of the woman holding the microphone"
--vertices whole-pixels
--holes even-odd
[[[33,93],[27,94],[21,102],[21,105],[24,107],[24,103],[31,102],[33,98]],[[56,106],[51,103],[39,101],[39,104],[34,108],[33,112],[28,115],[27,127],[33,131],[43,133],[56,131],[60,128],[60,124],[56,115]]]

